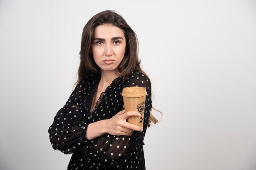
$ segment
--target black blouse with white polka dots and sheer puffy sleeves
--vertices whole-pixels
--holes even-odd
[[[48,130],[52,147],[73,154],[67,170],[145,170],[143,140],[152,107],[150,80],[141,72],[132,73],[124,81],[116,78],[102,93],[91,114],[100,78],[100,74],[94,74],[78,83],[65,106],[57,112]],[[121,92],[130,86],[145,87],[147,91],[143,131],[133,131],[131,136],[105,134],[87,139],[88,124],[110,119],[124,109]]]

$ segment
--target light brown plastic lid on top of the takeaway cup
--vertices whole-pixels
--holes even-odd
[[[125,87],[122,92],[124,97],[142,97],[146,95],[147,92],[144,87]]]

